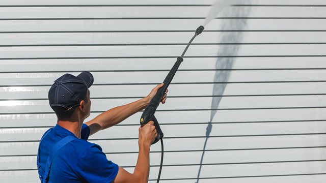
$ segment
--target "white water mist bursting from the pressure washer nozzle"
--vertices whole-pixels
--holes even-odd
[[[236,0],[216,0],[215,3],[211,6],[203,26],[206,26],[210,21],[218,16],[222,10],[228,6],[231,6]]]

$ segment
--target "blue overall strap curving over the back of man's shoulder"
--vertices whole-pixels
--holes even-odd
[[[56,143],[55,146],[53,146],[53,148],[51,150],[51,153],[50,153],[50,156],[47,158],[44,172],[39,172],[40,179],[41,179],[42,183],[46,183],[48,181],[48,176],[49,176],[49,173],[50,173],[52,160],[57,155],[59,149],[61,149],[63,146],[68,144],[73,139],[76,139],[76,137],[67,136],[67,137],[61,139],[58,143]],[[39,163],[39,157],[38,157],[38,163]]]

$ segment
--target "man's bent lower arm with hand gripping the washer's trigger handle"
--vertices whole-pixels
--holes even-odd
[[[133,173],[119,167],[118,174],[113,181],[114,183],[143,183],[148,182],[149,177],[149,151],[151,143],[157,136],[153,121],[139,128],[139,154],[137,164]]]

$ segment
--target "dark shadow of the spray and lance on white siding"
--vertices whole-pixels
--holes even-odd
[[[250,0],[234,1],[234,4],[250,5]],[[230,7],[224,11],[223,17],[248,17],[251,11],[250,7]],[[221,30],[238,30],[241,31],[247,28],[247,19],[223,19]],[[222,32],[220,35],[220,43],[240,43],[242,42],[243,32]],[[206,140],[204,143],[203,154],[200,161],[200,167],[197,175],[197,183],[199,183],[200,171],[202,168],[203,158],[205,154],[206,144],[212,130],[212,119],[214,118],[217,109],[219,108],[222,95],[226,88],[226,82],[229,80],[235,56],[239,51],[240,45],[225,44],[221,45],[218,50],[218,59],[216,60],[216,72],[214,75],[213,99],[211,103],[210,121],[206,128]]]

